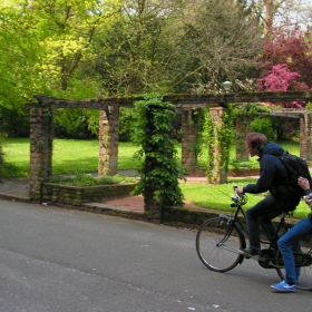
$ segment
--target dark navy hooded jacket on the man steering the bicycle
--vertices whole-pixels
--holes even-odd
[[[276,143],[269,142],[260,149],[260,178],[256,184],[244,186],[244,193],[259,194],[270,192],[272,196],[294,208],[300,202],[300,195],[290,184],[290,177],[282,160],[275,156],[284,149]]]

